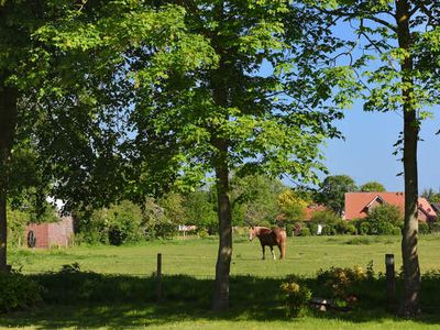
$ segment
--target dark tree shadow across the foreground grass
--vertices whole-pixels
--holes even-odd
[[[164,301],[155,302],[155,278],[100,275],[95,273],[54,273],[32,275],[45,287],[44,304],[28,311],[11,312],[0,318],[0,327],[47,328],[130,328],[166,326],[180,321],[253,320],[289,321],[285,317],[283,279],[235,276],[231,278],[231,308],[223,314],[209,309],[213,282],[189,276],[163,278]],[[317,295],[320,284],[308,279]],[[354,323],[393,320],[385,312],[382,279],[365,282],[359,288],[358,306],[348,312],[311,312],[317,319],[338,319]],[[440,282],[427,282],[422,302],[429,314],[417,322],[440,323]],[[436,308],[437,307],[437,308]],[[286,323],[287,326],[287,323]]]

